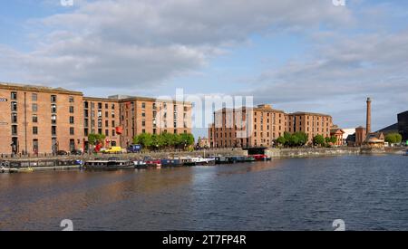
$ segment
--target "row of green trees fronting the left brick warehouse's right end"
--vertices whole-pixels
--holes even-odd
[[[161,148],[185,148],[194,144],[192,134],[153,134],[142,133],[133,138],[133,144],[140,144],[143,148],[161,149]]]

